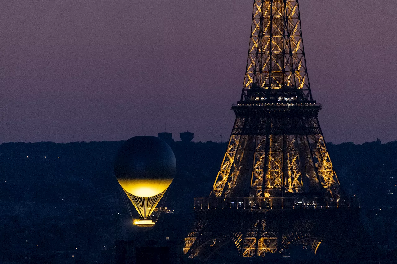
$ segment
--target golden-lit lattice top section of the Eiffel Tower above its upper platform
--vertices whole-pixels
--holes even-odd
[[[299,89],[312,100],[296,0],[254,0],[247,68],[241,100],[255,100],[251,89]]]

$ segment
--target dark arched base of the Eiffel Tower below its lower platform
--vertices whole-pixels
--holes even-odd
[[[200,202],[196,200],[196,205]],[[210,207],[196,208],[196,213],[192,232],[185,239],[185,253],[201,260],[221,251],[227,243],[234,245],[238,256],[245,257],[285,254],[296,243],[310,246],[314,254],[321,244],[331,246],[341,256],[359,257],[365,251],[372,252],[357,209]]]

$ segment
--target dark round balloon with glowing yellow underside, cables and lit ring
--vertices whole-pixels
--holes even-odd
[[[114,173],[127,197],[137,209],[137,226],[153,226],[150,216],[170,186],[176,171],[171,147],[153,136],[137,136],[121,145]]]

